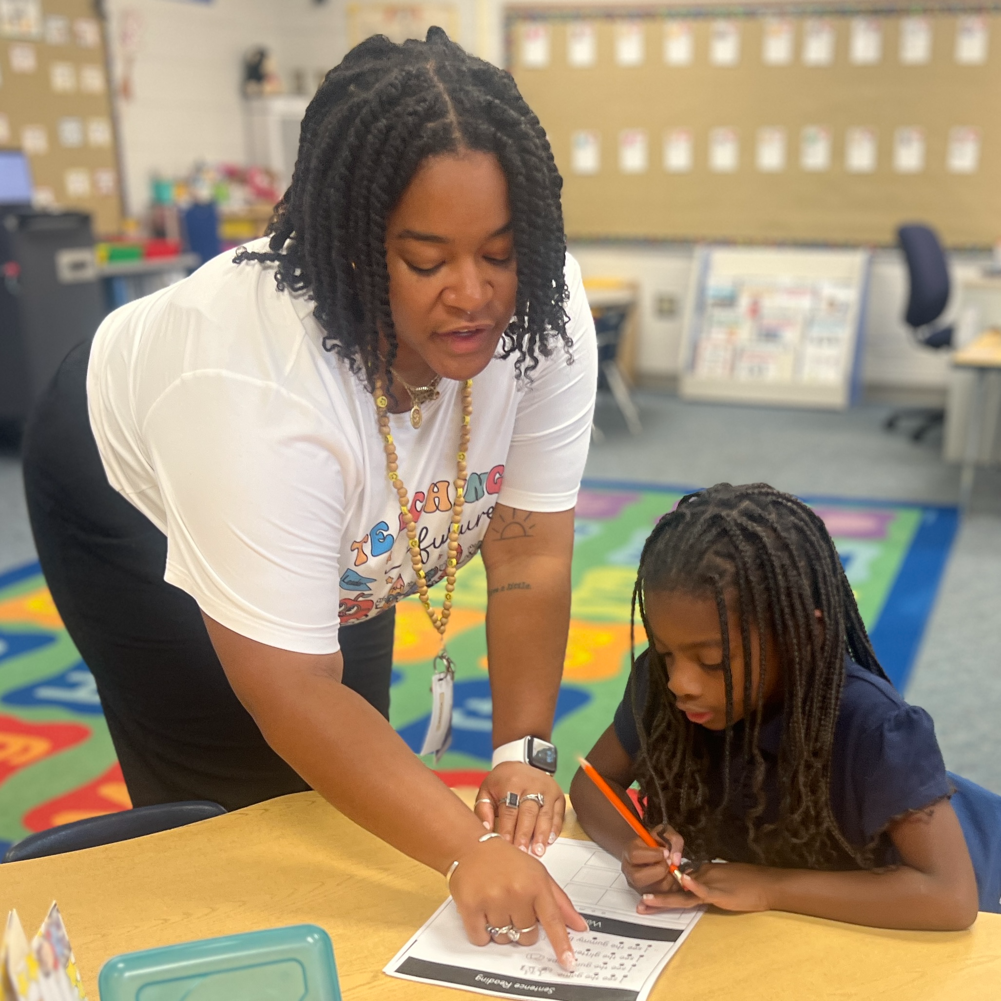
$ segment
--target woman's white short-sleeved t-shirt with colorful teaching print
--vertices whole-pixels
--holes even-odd
[[[259,249],[260,243],[250,244]],[[90,424],[111,485],[167,537],[164,580],[209,617],[283,650],[328,654],[416,583],[386,477],[371,394],[335,354],[305,294],[233,251],[116,309],[87,371]],[[559,512],[577,503],[598,357],[568,256],[568,331],[532,380],[494,358],[472,385],[459,565],[496,503]],[[429,583],[444,577],[455,497],[459,383],[390,415]]]

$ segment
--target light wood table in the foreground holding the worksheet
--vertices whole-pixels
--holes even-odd
[[[569,817],[568,834],[581,836]],[[314,793],[85,852],[0,866],[0,908],[28,934],[59,902],[91,1001],[110,956],[311,922],[333,940],[346,1001],[451,1001],[380,971],[445,896],[444,880]],[[911,999],[1001,995],[1001,915],[967,932],[873,931],[789,914],[707,914],[655,999]]]

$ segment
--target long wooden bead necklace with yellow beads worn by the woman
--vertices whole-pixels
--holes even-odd
[[[385,384],[380,377],[375,379],[375,412],[378,415],[378,429],[382,437],[382,447],[385,450],[385,468],[389,481],[396,489],[399,498],[399,517],[409,541],[410,563],[417,576],[417,597],[427,613],[427,618],[441,638],[441,655],[444,655],[444,631],[451,616],[451,596],[455,590],[455,571],[458,567],[458,527],[462,521],[462,507],[465,503],[465,453],[469,447],[469,417],[472,416],[472,379],[467,378],[462,383],[462,422],[458,430],[458,456],[455,471],[455,499],[451,506],[451,525],[448,528],[448,559],[445,563],[444,601],[440,613],[431,608],[427,595],[427,578],[424,574],[424,562],[420,556],[420,544],[417,542],[417,523],[410,514],[410,498],[406,492],[403,480],[399,478],[399,461],[396,456],[396,446],[392,440],[392,430],[389,426],[389,400],[385,395]]]

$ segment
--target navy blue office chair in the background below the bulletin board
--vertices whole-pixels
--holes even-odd
[[[953,327],[936,323],[949,301],[949,264],[938,235],[930,226],[909,223],[897,230],[897,239],[904,251],[911,283],[904,320],[924,347],[933,350],[950,347]],[[911,437],[920,441],[944,419],[945,410],[941,407],[907,407],[894,410],[886,418],[886,428],[893,430],[902,420],[916,420]]]

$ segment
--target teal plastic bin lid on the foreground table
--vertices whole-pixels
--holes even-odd
[[[101,1001],[341,1001],[330,936],[316,925],[182,942],[109,959]]]

